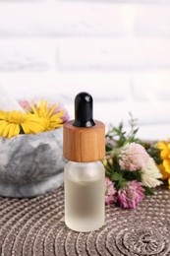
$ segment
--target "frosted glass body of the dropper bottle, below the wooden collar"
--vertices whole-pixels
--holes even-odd
[[[105,171],[100,161],[69,161],[64,170],[65,223],[88,232],[104,224]]]

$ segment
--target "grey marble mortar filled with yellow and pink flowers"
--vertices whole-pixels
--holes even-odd
[[[63,182],[62,126],[66,109],[47,100],[20,100],[0,110],[0,195],[32,197]]]

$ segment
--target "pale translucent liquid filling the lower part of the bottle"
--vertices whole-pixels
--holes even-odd
[[[92,231],[104,224],[103,180],[65,180],[65,223],[78,231]]]

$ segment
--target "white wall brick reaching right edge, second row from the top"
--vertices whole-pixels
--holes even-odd
[[[170,68],[170,39],[72,38],[59,45],[61,68],[145,69]]]

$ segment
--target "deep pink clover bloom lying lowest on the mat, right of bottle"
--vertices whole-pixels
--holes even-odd
[[[118,202],[123,208],[135,209],[143,197],[142,183],[136,180],[128,182],[125,188],[118,191]]]

